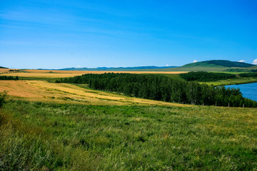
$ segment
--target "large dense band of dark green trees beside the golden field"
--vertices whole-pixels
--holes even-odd
[[[85,74],[64,78],[56,83],[86,83],[96,90],[124,93],[138,98],[195,105],[257,107],[257,102],[243,98],[239,89],[207,86],[197,82],[178,81],[166,76],[131,73]]]

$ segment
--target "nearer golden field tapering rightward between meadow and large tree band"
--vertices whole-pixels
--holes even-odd
[[[81,88],[68,83],[49,83],[47,81],[0,81],[0,92],[3,90],[7,90],[11,98],[53,103],[191,106],[178,103],[166,103],[158,100],[133,98],[116,93]]]

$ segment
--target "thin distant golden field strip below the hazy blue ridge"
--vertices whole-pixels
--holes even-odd
[[[7,72],[9,69],[0,70],[0,76],[19,76],[19,77],[33,77],[33,78],[66,78],[81,76],[86,73],[167,73],[178,74],[187,73],[186,71],[171,71],[171,72],[158,72],[158,71],[55,71],[55,70],[24,70],[24,72]],[[7,72],[7,73],[6,73]]]

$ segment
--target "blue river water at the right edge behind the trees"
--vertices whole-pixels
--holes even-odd
[[[240,88],[244,98],[250,98],[251,100],[257,101],[257,83],[238,84],[225,87]]]

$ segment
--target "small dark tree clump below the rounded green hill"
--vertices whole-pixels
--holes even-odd
[[[230,74],[230,73],[208,73],[205,71],[181,73],[179,74],[179,76],[181,76],[181,78],[185,79],[186,81],[203,81],[203,82],[226,80],[228,78],[236,78],[234,74]]]

